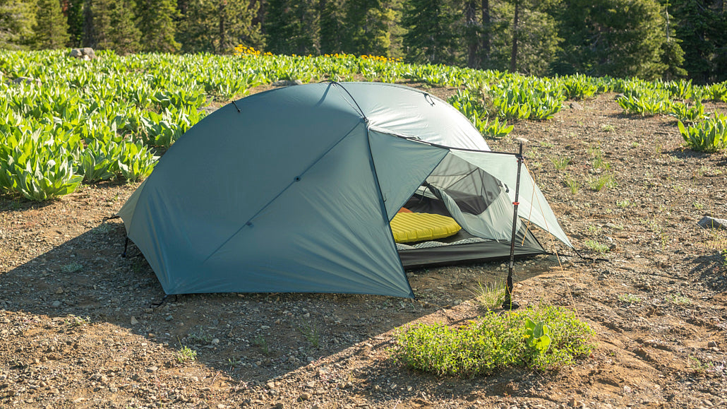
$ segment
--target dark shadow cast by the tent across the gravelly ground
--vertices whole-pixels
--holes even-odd
[[[145,362],[146,366],[182,373],[201,364],[254,385],[311,362],[311,368],[322,359],[332,360],[326,365],[334,365],[347,357],[388,348],[390,338],[382,335],[428,315],[432,317],[425,318],[427,322],[446,320],[452,306],[473,298],[471,288],[476,282],[471,286],[463,282],[467,274],[490,274],[491,279],[503,279],[507,274],[502,269],[488,272],[496,271],[502,261],[411,271],[412,286],[422,287],[415,291],[418,300],[220,293],[170,296],[154,307],[153,303],[162,301],[164,291],[136,247],[129,246],[129,257],[121,258],[124,237],[123,225],[109,221],[2,273],[0,308],[35,315],[39,325],[46,325],[47,333],[38,328],[43,337],[60,336],[66,343],[86,337],[101,343],[113,341],[119,333],[137,348],[146,343],[150,345],[146,349],[164,351],[164,360]],[[480,313],[472,314],[459,314],[449,322],[465,322]],[[76,330],[74,323],[87,327]],[[185,351],[190,350],[196,352],[196,361],[185,358]],[[118,365],[91,359],[84,365],[96,370],[112,364]],[[396,365],[379,364],[382,368]]]

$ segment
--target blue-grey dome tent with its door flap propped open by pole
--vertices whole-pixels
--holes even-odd
[[[413,297],[405,267],[509,255],[517,166],[426,92],[306,84],[206,116],[118,215],[166,294]],[[528,172],[519,186],[520,215],[572,247]],[[462,230],[398,245],[389,222],[405,204]],[[515,220],[515,253],[545,253]]]

